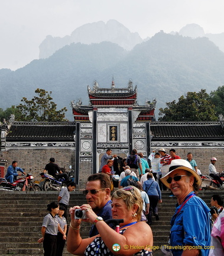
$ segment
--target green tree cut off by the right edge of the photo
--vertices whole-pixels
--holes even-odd
[[[215,105],[215,111],[217,114],[224,116],[224,85],[218,87],[216,91],[210,92],[212,103]]]

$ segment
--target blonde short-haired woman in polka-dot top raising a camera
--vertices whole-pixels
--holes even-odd
[[[99,235],[82,239],[80,236],[81,219],[74,218],[77,209],[86,210],[90,223],[95,223]],[[113,219],[124,219],[119,233],[110,228],[97,216],[89,204],[70,208],[71,223],[67,236],[67,249],[74,255],[151,255],[153,245],[152,231],[145,222],[140,222],[142,198],[136,187],[124,187],[112,195]],[[150,247],[150,248],[148,248]]]

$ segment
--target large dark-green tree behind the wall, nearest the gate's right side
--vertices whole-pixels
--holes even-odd
[[[212,104],[205,89],[199,92],[187,92],[178,102],[166,103],[160,108],[159,121],[216,121],[215,105]]]

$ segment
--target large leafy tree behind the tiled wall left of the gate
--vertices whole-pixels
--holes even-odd
[[[18,121],[67,121],[64,119],[67,108],[56,110],[57,104],[54,103],[51,97],[51,91],[37,88],[31,100],[22,98],[22,103],[17,106],[19,110]]]

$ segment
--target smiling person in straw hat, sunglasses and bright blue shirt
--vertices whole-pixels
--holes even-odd
[[[196,194],[202,180],[189,162],[173,160],[169,172],[160,179],[177,197],[171,219],[170,245],[173,256],[209,255],[210,209]],[[207,248],[206,248],[207,247]]]

